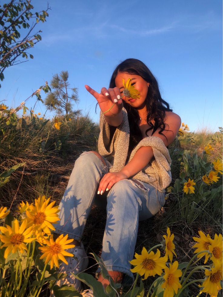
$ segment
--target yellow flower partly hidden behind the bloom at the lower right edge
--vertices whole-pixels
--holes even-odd
[[[195,245],[193,246],[193,248],[197,248],[194,251],[194,254],[202,251],[208,251],[212,240],[209,234],[206,236],[205,233],[203,233],[202,231],[198,231],[198,233],[200,235],[200,238],[193,237],[193,239],[198,242],[198,243],[195,243]],[[203,256],[205,256],[205,262],[204,262],[205,264],[208,261],[210,254],[208,252],[201,253],[198,255],[198,259],[201,259]]]

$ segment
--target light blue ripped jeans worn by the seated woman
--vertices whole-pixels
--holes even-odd
[[[105,159],[104,159],[105,160]],[[106,164],[107,161],[105,160]],[[81,240],[92,204],[106,205],[106,194],[97,195],[99,181],[108,166],[92,152],[84,152],[76,160],[68,186],[59,205],[60,221],[56,233]],[[148,183],[120,180],[107,193],[107,221],[101,259],[108,271],[119,271],[132,277],[138,222],[154,216],[165,204],[164,193]]]

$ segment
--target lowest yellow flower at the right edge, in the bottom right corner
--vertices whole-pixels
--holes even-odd
[[[203,287],[201,292],[208,293],[213,297],[217,296],[218,291],[222,289],[220,283],[222,280],[222,262],[215,267],[211,267],[211,270],[206,269],[205,275],[205,280],[203,284],[200,285],[200,287]]]

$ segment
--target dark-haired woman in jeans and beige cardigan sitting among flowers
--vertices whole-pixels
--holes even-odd
[[[69,252],[76,258],[60,267],[67,276],[57,285],[74,285],[78,291],[81,282],[71,272],[77,274],[88,266],[81,239],[93,203],[107,203],[101,259],[109,275],[115,282],[124,275],[133,277],[129,261],[138,222],[154,216],[165,204],[165,188],[171,183],[167,147],[181,125],[180,117],[161,98],[155,77],[137,59],[116,67],[108,89],[97,93],[85,87],[101,109],[98,152],[84,152],[76,160],[55,225],[56,233],[74,239],[75,248]],[[100,274],[98,281],[108,285]],[[85,290],[82,295],[93,296],[93,292]]]

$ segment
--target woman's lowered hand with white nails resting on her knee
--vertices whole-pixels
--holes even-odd
[[[110,190],[111,187],[119,180],[124,179],[128,179],[128,177],[120,171],[106,173],[99,183],[98,194],[100,193],[102,195],[107,189]]]

